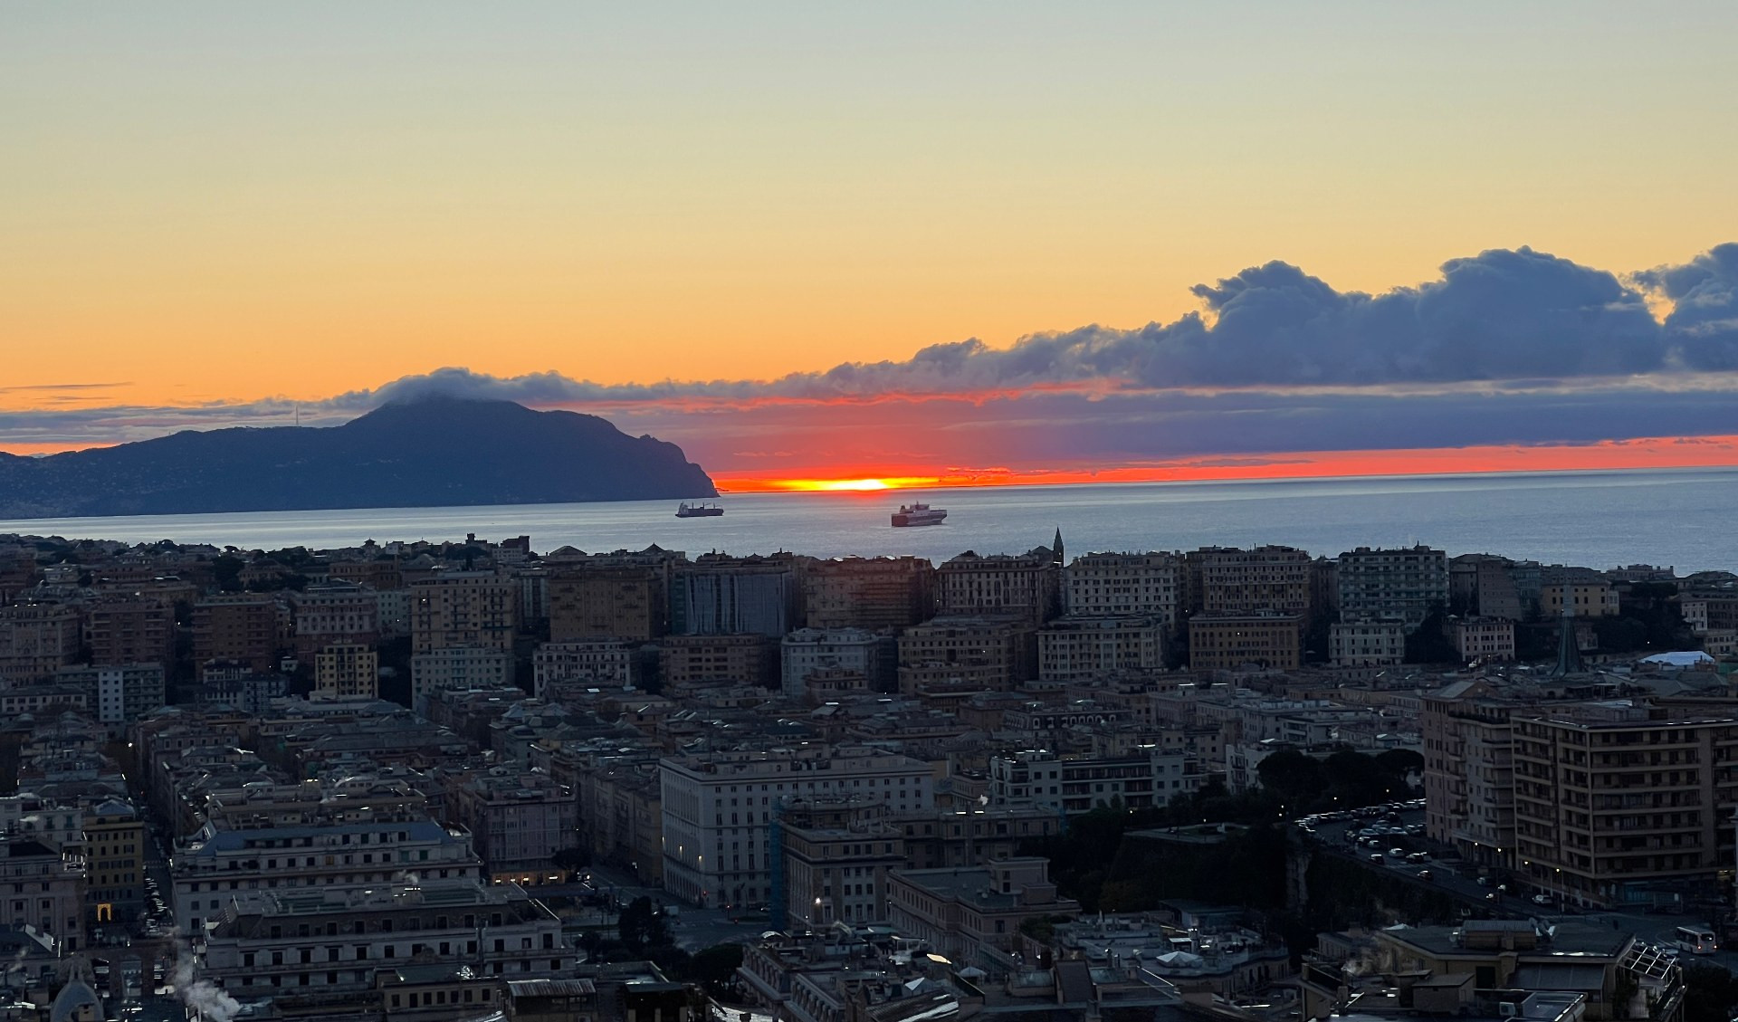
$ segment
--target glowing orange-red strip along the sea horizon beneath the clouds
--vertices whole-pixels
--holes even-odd
[[[1491,445],[1460,448],[1338,450],[1197,457],[1105,468],[899,466],[824,478],[714,471],[720,492],[879,492],[912,487],[1032,487],[1065,483],[1180,483],[1335,476],[1422,476],[1540,471],[1616,471],[1738,466],[1738,436],[1608,440],[1587,445]]]

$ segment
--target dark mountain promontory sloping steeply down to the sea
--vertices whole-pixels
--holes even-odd
[[[188,429],[49,457],[0,454],[0,518],[716,497],[674,443],[596,415],[424,396],[342,426]]]

